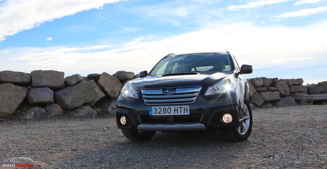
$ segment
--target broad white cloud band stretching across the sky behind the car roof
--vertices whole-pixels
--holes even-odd
[[[1,70],[58,70],[66,76],[118,70],[149,70],[168,53],[231,51],[240,64],[253,67],[307,66],[327,61],[327,23],[301,28],[260,27],[250,23],[210,25],[201,31],[146,42],[135,39],[118,48],[98,46],[17,47],[0,50]],[[0,70],[0,71],[1,71]]]

